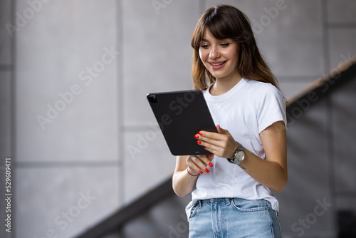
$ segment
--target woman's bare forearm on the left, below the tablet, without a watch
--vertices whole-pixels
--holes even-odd
[[[173,190],[179,197],[184,197],[194,190],[198,176],[189,175],[187,170],[175,171],[173,175]]]

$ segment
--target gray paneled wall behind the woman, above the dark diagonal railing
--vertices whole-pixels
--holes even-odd
[[[0,176],[11,156],[11,234],[74,237],[172,174],[145,95],[192,88],[192,31],[219,1],[12,2],[0,4]],[[288,97],[356,54],[355,1],[286,0],[268,11],[278,2],[224,1],[251,19]]]

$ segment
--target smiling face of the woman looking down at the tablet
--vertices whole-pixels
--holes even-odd
[[[217,78],[239,76],[239,44],[231,38],[218,40],[205,30],[199,56],[206,69]]]

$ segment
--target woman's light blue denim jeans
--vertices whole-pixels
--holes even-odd
[[[266,200],[199,200],[189,217],[189,238],[282,237],[278,214]]]

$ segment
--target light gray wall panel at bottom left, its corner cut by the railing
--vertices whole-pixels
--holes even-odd
[[[16,237],[75,237],[118,208],[116,167],[19,168]]]

